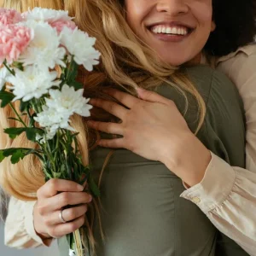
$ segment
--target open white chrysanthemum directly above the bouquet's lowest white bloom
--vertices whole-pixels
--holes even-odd
[[[55,109],[57,113],[78,113],[84,117],[90,116],[91,105],[87,104],[90,99],[86,99],[83,96],[84,90],[74,90],[73,87],[69,87],[64,84],[60,90],[49,90],[50,99],[46,100],[46,105],[50,109]]]

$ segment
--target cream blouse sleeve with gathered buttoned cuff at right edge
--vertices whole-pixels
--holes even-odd
[[[256,45],[220,61],[217,69],[236,84],[246,114],[246,169],[212,154],[201,183],[181,195],[193,201],[218,230],[256,256]]]

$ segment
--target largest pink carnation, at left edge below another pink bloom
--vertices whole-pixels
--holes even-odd
[[[32,30],[28,27],[0,25],[0,65],[5,59],[9,64],[17,61],[32,37]]]

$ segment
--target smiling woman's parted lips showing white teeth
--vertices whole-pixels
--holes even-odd
[[[181,42],[188,38],[195,28],[181,22],[160,21],[147,26],[154,38],[165,42]]]

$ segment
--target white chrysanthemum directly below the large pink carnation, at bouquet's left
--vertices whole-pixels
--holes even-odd
[[[28,66],[24,68],[24,71],[16,68],[15,76],[10,75],[6,80],[11,84],[8,88],[13,90],[14,102],[18,99],[27,102],[32,98],[40,98],[48,93],[52,86],[59,85],[60,81],[55,81],[57,75],[54,71],[49,72],[47,69]]]

